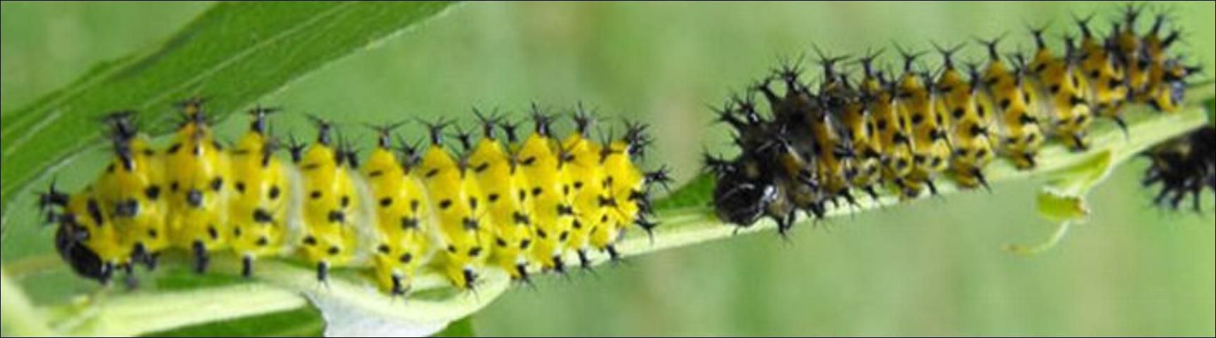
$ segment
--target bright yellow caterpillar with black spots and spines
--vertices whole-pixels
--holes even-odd
[[[56,250],[78,275],[108,283],[125,273],[134,286],[136,265],[151,270],[161,254],[181,251],[197,273],[231,252],[247,277],[255,262],[276,257],[315,267],[322,282],[332,269],[366,268],[393,296],[407,294],[423,267],[458,288],[474,288],[485,269],[528,282],[530,271],[564,271],[568,253],[584,268],[591,252],[620,259],[617,245],[631,225],[657,225],[651,188],[670,179],[665,167],[637,165],[651,142],[644,125],[596,138],[596,119],[581,105],[565,137],[557,116],[535,104],[524,137],[505,115],[474,110],[480,132],[457,128],[460,151],[445,142],[452,121],[423,122],[424,148],[394,132],[404,122],[371,126],[375,144],[362,159],[319,118],[310,118],[313,142],[281,144],[270,133],[277,109],[257,107],[249,128],[226,145],[202,99],[179,109],[164,148],[136,128],[133,111],[108,114],[106,171],[80,191],[52,183],[40,194],[40,210],[58,225]]]

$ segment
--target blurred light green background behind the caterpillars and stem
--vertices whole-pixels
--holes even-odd
[[[531,101],[554,108],[581,101],[604,116],[651,122],[658,144],[649,165],[671,165],[683,181],[697,173],[703,148],[728,149],[706,104],[779,59],[809,53],[811,44],[856,55],[891,41],[929,48],[929,41],[1010,33],[1007,47],[1029,48],[1028,24],[1051,23],[1058,36],[1074,31],[1071,15],[1105,22],[1121,5],[466,4],[263,102],[291,111],[276,120],[281,131],[310,133],[295,113],[315,113],[370,142],[355,125],[466,116],[474,104],[518,111]],[[2,110],[67,85],[100,61],[156,46],[208,6],[5,1]],[[1216,65],[1214,2],[1150,7],[1184,29],[1180,50],[1192,63]],[[964,55],[979,58],[981,51],[973,46]],[[235,136],[241,120],[225,122],[225,133]],[[64,187],[81,187],[100,170],[105,154],[96,153],[58,174]],[[535,291],[508,292],[477,314],[474,326],[485,336],[1212,336],[1211,199],[1199,214],[1159,211],[1137,184],[1144,166],[1118,170],[1093,193],[1090,222],[1032,258],[1001,247],[1051,231],[1034,214],[1038,182],[1007,182],[995,194],[955,194],[801,227],[789,244],[771,233],[747,235],[632,258],[597,275],[547,277]],[[33,205],[28,196],[16,202]],[[11,217],[33,224],[35,216]],[[51,231],[10,228],[6,263],[52,251]],[[91,290],[62,270],[46,274],[62,282],[22,281],[36,300]]]

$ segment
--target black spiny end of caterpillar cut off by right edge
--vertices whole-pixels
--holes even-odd
[[[1166,141],[1144,153],[1152,164],[1144,170],[1144,187],[1160,185],[1153,202],[1180,208],[1189,196],[1200,211],[1203,191],[1216,191],[1216,127],[1209,125]]]

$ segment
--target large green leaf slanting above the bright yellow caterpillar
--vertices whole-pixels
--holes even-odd
[[[164,133],[173,103],[208,98],[224,116],[355,51],[429,18],[451,2],[221,2],[161,46],[103,63],[68,87],[0,115],[0,204],[101,142],[107,111],[137,110]],[[4,218],[7,220],[7,214]]]

